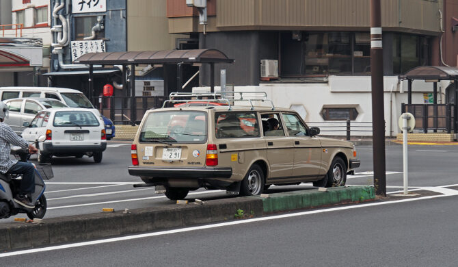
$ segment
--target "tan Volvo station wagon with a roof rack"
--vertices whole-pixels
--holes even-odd
[[[252,196],[272,184],[344,186],[360,166],[351,142],[318,136],[294,110],[255,107],[260,99],[246,97],[250,105],[231,105],[237,100],[148,110],[131,147],[129,174],[144,181],[135,187],[156,186],[172,200],[198,188]]]

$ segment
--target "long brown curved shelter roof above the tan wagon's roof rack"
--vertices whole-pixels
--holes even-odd
[[[86,53],[75,60],[75,64],[178,64],[184,63],[232,63],[217,49],[161,50]]]

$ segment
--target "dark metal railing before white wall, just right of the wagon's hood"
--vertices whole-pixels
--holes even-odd
[[[351,133],[372,132],[372,122],[351,121],[351,120],[332,120],[332,121],[309,121],[308,127],[319,127],[320,132],[345,131],[347,140],[350,140]],[[324,128],[324,129],[323,129]]]

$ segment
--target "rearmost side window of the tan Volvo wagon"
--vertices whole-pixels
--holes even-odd
[[[259,137],[258,118],[254,112],[218,112],[215,128],[217,138]]]

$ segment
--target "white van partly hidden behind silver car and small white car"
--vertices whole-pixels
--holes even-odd
[[[89,99],[87,99],[81,91],[75,89],[27,86],[0,87],[1,101],[6,99],[16,99],[19,97],[57,99],[66,103],[69,107],[84,107],[96,110]],[[97,113],[99,113],[98,110]]]

